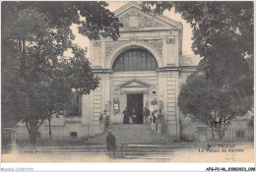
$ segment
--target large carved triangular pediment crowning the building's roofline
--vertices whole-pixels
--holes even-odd
[[[137,2],[130,2],[114,13],[123,24],[123,30],[182,28],[182,24],[166,17],[143,13],[141,5]]]

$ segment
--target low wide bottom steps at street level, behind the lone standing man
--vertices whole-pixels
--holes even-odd
[[[195,145],[160,145],[160,144],[128,144],[123,145],[121,151],[121,145],[118,144],[116,148],[116,157],[142,157],[142,158],[173,158],[177,154],[183,153],[187,149],[196,148]],[[24,154],[25,151],[35,152],[37,155],[43,155],[46,153],[55,155],[108,155],[105,145],[83,145],[83,146],[36,146],[32,149],[30,146],[20,147],[19,152]]]

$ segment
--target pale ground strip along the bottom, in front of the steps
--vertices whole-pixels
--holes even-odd
[[[160,148],[161,149],[161,148]],[[165,147],[164,151],[152,151],[155,148],[148,147],[146,152],[140,154],[135,151],[120,152],[115,157],[109,157],[107,153],[98,152],[72,152],[68,151],[35,151],[17,152],[15,154],[2,155],[3,162],[252,162],[254,158],[253,144],[236,144],[235,148],[229,151],[228,147],[218,148],[217,146],[207,150],[205,146],[187,147]],[[226,152],[223,152],[225,150]],[[137,153],[137,154],[136,154]]]

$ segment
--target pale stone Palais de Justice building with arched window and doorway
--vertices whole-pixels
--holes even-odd
[[[90,61],[101,79],[99,86],[82,96],[81,116],[52,120],[52,136],[95,136],[100,132],[99,113],[106,111],[110,125],[122,124],[125,107],[136,110],[140,125],[146,106],[151,113],[161,110],[167,135],[179,137],[192,128],[195,131],[195,127],[186,129],[190,119],[183,118],[177,106],[180,85],[198,65],[195,56],[182,55],[182,41],[186,40],[182,24],[143,13],[136,2],[114,14],[123,24],[120,38],[100,38],[90,43]],[[19,125],[23,129],[18,133],[28,133],[25,124]],[[38,130],[41,136],[47,136],[47,128],[43,123]]]

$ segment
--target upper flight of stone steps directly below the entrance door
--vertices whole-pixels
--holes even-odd
[[[104,134],[88,141],[92,144],[105,144],[107,131],[110,130],[116,138],[116,143],[128,144],[159,144],[160,134],[151,131],[151,125],[143,124],[116,124],[110,125]]]

